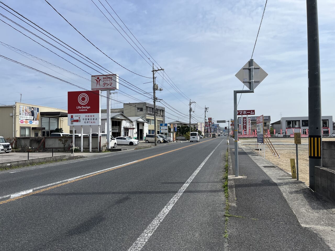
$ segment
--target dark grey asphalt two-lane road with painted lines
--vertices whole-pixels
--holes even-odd
[[[226,149],[218,137],[2,171],[0,250],[225,250]]]

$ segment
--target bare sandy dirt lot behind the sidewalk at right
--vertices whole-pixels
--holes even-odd
[[[323,141],[335,141],[335,138],[322,138]],[[275,150],[280,155],[280,158],[274,157],[270,149],[265,146],[265,158],[271,161],[275,166],[279,166],[288,173],[291,173],[290,158],[295,159],[296,153],[294,138],[272,138],[270,139]],[[249,146],[255,151],[257,140],[254,138],[242,138],[240,142]],[[259,151],[255,151],[259,153]],[[308,158],[308,138],[301,139],[301,145],[298,145],[298,168],[299,180],[306,182],[309,185],[309,158]]]

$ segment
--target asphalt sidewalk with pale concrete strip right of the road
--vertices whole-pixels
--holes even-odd
[[[235,175],[229,144],[229,175]],[[305,183],[239,147],[239,174],[228,180],[229,250],[335,250],[334,205]]]

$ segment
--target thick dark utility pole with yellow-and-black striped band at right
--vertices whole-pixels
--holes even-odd
[[[319,25],[317,0],[307,0],[307,52],[308,52],[308,145],[310,188],[315,191],[314,168],[322,166],[322,117]]]

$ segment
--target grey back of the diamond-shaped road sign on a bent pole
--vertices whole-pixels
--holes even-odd
[[[263,79],[266,78],[267,75],[268,74],[254,61],[254,89],[260,82],[263,81]],[[247,86],[249,90],[251,89],[250,60],[241,68],[241,70],[238,71],[238,73],[236,73],[235,77]]]

